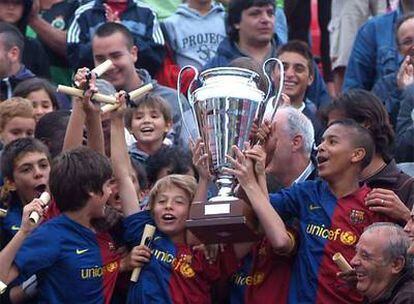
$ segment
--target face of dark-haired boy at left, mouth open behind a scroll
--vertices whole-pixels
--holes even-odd
[[[38,197],[49,184],[50,164],[41,152],[29,152],[14,163],[12,185],[24,204]]]

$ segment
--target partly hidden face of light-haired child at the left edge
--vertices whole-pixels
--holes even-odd
[[[33,118],[13,117],[0,133],[1,141],[7,145],[18,138],[33,137],[36,121]]]

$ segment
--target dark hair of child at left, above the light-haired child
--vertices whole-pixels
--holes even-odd
[[[46,79],[43,78],[29,78],[20,82],[13,91],[13,96],[27,98],[27,96],[35,91],[45,90],[52,102],[53,109],[59,109],[59,103],[56,98],[56,88]]]

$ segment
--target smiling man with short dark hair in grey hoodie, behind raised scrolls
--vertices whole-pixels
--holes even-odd
[[[109,81],[117,91],[131,92],[153,82],[147,70],[135,68],[135,62],[139,56],[133,41],[131,32],[116,22],[101,25],[92,38],[95,66],[107,59],[112,60],[112,67],[102,75],[102,78]],[[173,128],[167,137],[172,140],[173,144],[187,144],[190,135],[182,128],[182,121],[185,120],[188,130],[196,130],[192,111],[187,107],[184,113],[185,119],[181,118],[178,94],[174,89],[155,84],[152,93],[163,97],[172,108]],[[181,95],[181,100],[184,99],[185,97]],[[187,146],[184,147],[187,148]]]

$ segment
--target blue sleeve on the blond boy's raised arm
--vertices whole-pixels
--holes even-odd
[[[155,222],[148,210],[132,214],[125,218],[123,221],[124,241],[131,247],[139,245],[146,224],[155,226]]]

